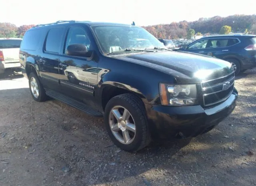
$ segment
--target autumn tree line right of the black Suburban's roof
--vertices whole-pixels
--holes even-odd
[[[256,14],[254,15],[233,15],[228,17],[214,16],[212,18],[200,18],[197,21],[172,22],[170,24],[158,24],[143,26],[156,38],[177,39],[191,38],[197,35],[228,32],[251,32],[256,34]]]

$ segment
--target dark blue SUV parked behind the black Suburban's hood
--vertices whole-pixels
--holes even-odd
[[[236,75],[256,66],[256,35],[207,36],[179,50],[204,54],[231,62],[236,70]]]

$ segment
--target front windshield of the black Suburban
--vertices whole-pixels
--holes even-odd
[[[105,54],[126,49],[141,50],[166,48],[162,42],[156,39],[144,28],[136,26],[110,26],[100,25],[92,27],[99,44]],[[132,52],[134,52],[132,50]]]

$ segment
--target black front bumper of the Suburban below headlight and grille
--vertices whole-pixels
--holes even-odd
[[[196,106],[156,106],[146,105],[152,137],[190,138],[204,134],[235,108],[238,92],[233,90],[225,102],[210,108]]]

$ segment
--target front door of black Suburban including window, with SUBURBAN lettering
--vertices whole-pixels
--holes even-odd
[[[93,51],[86,30],[80,26],[71,26],[66,36],[64,54],[60,56],[61,92],[96,108],[94,95],[98,80],[98,62],[92,58],[67,55],[66,48],[71,44],[83,44],[88,51]]]

